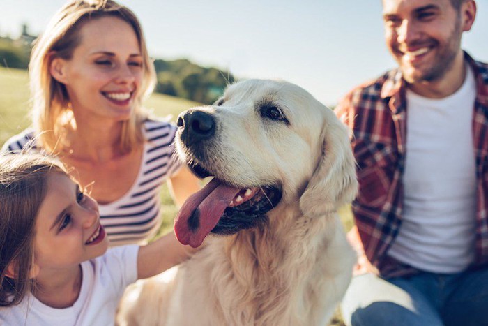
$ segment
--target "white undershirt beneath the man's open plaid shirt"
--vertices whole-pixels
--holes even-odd
[[[448,97],[406,92],[404,208],[388,255],[427,272],[461,272],[474,260],[475,96],[470,68]]]

